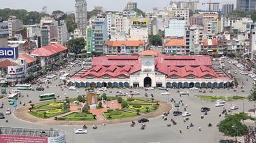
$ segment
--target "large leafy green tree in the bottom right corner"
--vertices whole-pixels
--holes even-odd
[[[225,136],[244,136],[247,132],[247,126],[241,123],[241,119],[245,118],[244,113],[227,115],[225,119],[219,123],[218,131],[221,131]]]

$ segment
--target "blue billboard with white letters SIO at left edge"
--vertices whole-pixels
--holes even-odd
[[[3,58],[18,58],[18,47],[0,48],[0,59]]]

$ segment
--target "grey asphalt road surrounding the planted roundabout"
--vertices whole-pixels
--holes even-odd
[[[226,66],[229,63],[225,63]],[[237,70],[236,67],[231,65],[231,70]],[[79,68],[79,67],[76,67]],[[74,69],[76,69],[74,68]],[[238,72],[240,73],[240,72]],[[38,125],[36,123],[29,123],[27,121],[21,121],[20,119],[16,118],[13,114],[6,115],[5,117],[8,118],[9,123],[5,123],[5,120],[0,120],[1,126],[7,126],[7,127],[26,127],[26,128],[55,128],[55,129],[62,129],[66,131],[66,142],[72,143],[83,143],[83,142],[89,142],[89,143],[100,143],[100,142],[111,142],[111,143],[119,143],[119,142],[134,142],[134,143],[147,143],[147,142],[160,142],[160,143],[169,143],[169,142],[176,142],[176,143],[184,143],[184,142],[195,142],[195,143],[214,143],[214,142],[220,142],[220,140],[225,140],[225,137],[222,133],[218,132],[218,128],[216,125],[221,121],[224,116],[219,117],[218,114],[221,113],[223,110],[223,107],[216,108],[214,107],[213,102],[206,102],[201,99],[198,99],[195,97],[195,95],[223,95],[223,96],[233,96],[233,95],[242,95],[242,96],[248,96],[250,94],[250,89],[253,83],[253,80],[249,78],[248,76],[242,76],[240,74],[235,75],[238,78],[238,83],[245,82],[244,89],[245,92],[241,92],[240,87],[238,87],[237,92],[234,92],[233,90],[227,90],[227,89],[214,89],[213,93],[210,93],[210,90],[205,90],[206,93],[199,93],[199,91],[189,91],[190,96],[182,96],[177,93],[177,89],[169,90],[171,93],[170,96],[163,96],[160,95],[162,91],[159,91],[158,89],[155,89],[154,91],[144,91],[142,89],[134,89],[135,91],[139,91],[141,95],[140,97],[143,97],[145,93],[153,93],[155,98],[162,99],[169,101],[170,104],[173,104],[170,99],[171,97],[175,99],[175,101],[178,101],[182,99],[184,102],[184,105],[187,105],[188,108],[186,108],[186,112],[190,112],[192,115],[189,116],[189,121],[186,121],[184,123],[182,116],[173,116],[173,114],[169,114],[167,116],[168,120],[163,121],[162,116],[157,116],[155,118],[150,118],[150,122],[146,123],[145,130],[141,130],[141,125],[137,123],[135,127],[130,127],[130,123],[119,123],[119,124],[113,124],[113,125],[98,125],[98,129],[92,129],[91,126],[88,127],[87,131],[88,133],[85,135],[75,135],[74,129],[81,128],[80,126],[70,126],[63,125],[63,126],[49,126],[49,125]],[[248,78],[248,82],[246,81],[246,78]],[[61,98],[64,97],[65,93],[68,97],[76,97],[78,94],[85,94],[85,89],[77,89],[76,91],[68,91],[68,89],[64,89],[61,91],[59,86],[55,86],[57,82],[60,82],[59,80],[53,80],[53,84],[49,85],[50,88],[46,89],[45,91],[21,91],[21,94],[25,97],[19,98],[19,101],[27,102],[29,100],[32,100],[33,103],[38,102],[38,95],[42,93],[55,93],[55,95],[60,95]],[[129,92],[131,89],[121,89],[124,92]],[[180,89],[182,91],[183,89]],[[187,89],[184,89],[187,90]],[[79,93],[77,93],[79,91]],[[109,91],[112,91],[112,93],[109,93]],[[116,91],[120,91],[120,89],[108,89],[106,91],[107,95],[115,95]],[[27,97],[27,94],[29,97]],[[0,103],[3,101],[4,108],[0,109],[0,112],[5,112],[7,108],[11,108],[12,111],[14,108],[10,105],[8,105],[7,99],[0,99]],[[243,103],[244,102],[244,103]],[[225,104],[225,108],[230,108],[230,102],[227,102]],[[250,101],[233,101],[233,105],[236,105],[239,107],[238,110],[233,111],[234,112],[242,112],[247,111],[254,106],[254,102]],[[21,105],[18,105],[21,106]],[[209,107],[211,108],[210,112],[208,112],[208,115],[205,116],[205,118],[201,119],[201,107]],[[173,108],[173,110],[177,110],[177,108]],[[171,113],[173,112],[171,110]],[[180,111],[184,112],[184,107],[179,108]],[[171,125],[171,127],[167,127],[167,124],[170,123],[170,118],[173,118],[177,125]],[[186,126],[190,123],[193,123],[195,127],[191,127],[190,129],[186,129]],[[212,123],[212,127],[208,127],[208,123]],[[198,128],[201,127],[201,131],[198,130]],[[182,129],[182,133],[179,132],[179,130]]]

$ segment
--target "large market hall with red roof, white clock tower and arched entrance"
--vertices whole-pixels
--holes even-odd
[[[145,50],[139,55],[94,57],[92,68],[81,69],[68,80],[77,87],[125,86],[168,88],[224,88],[233,79],[209,56],[169,56]]]

